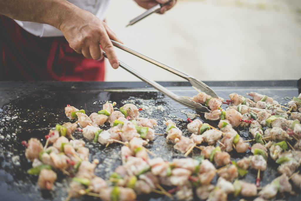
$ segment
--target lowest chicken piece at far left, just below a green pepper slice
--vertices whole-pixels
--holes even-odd
[[[52,170],[42,169],[39,178],[38,184],[41,189],[53,190],[54,181],[57,179],[57,174]]]

